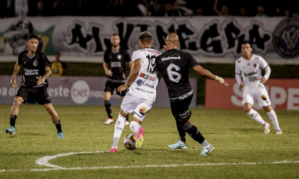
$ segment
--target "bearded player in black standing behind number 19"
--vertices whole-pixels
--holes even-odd
[[[112,116],[112,106],[110,102],[110,96],[113,93],[114,89],[117,89],[120,85],[126,83],[126,62],[129,64],[130,71],[133,68],[133,63],[129,57],[129,53],[120,48],[120,37],[118,34],[112,34],[111,39],[111,49],[107,49],[104,54],[104,63],[103,67],[107,75],[107,81],[104,87],[104,103],[108,118],[104,124],[113,123]],[[128,89],[123,91],[121,94],[116,91],[116,94],[120,95],[121,101],[125,97]],[[125,125],[128,125],[129,120],[126,118]]]

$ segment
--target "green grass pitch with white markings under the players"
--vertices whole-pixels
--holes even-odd
[[[125,126],[118,152],[107,153],[115,123],[103,124],[104,107],[54,107],[64,139],[37,104],[22,104],[16,134],[6,134],[11,105],[0,105],[0,178],[299,178],[299,111],[277,110],[283,134],[271,125],[265,135],[242,109],[191,109],[191,122],[214,146],[199,156],[201,145],[188,135],[188,149],[168,148],[178,139],[170,108],[151,109],[141,148],[125,149],[122,140],[132,133]],[[116,121],[119,107],[112,111]]]

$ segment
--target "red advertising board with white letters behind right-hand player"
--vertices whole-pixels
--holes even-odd
[[[235,78],[224,79],[229,85],[221,86],[206,80],[205,108],[243,109],[242,91]],[[269,79],[265,87],[273,109],[299,110],[299,79]],[[263,109],[254,102],[255,109]]]

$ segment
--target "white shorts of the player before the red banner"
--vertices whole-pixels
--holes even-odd
[[[250,103],[253,105],[254,100],[257,101],[257,104],[259,104],[260,107],[266,107],[271,105],[271,101],[269,99],[269,95],[265,87],[260,90],[246,90],[243,92],[243,100],[242,104]]]

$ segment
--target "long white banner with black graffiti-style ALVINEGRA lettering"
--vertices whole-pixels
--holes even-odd
[[[161,52],[167,34],[176,32],[179,48],[198,62],[233,63],[242,55],[245,40],[267,61],[299,60],[299,18],[55,16],[3,18],[0,24],[0,61],[16,61],[11,57],[27,49],[26,35],[36,33],[40,38],[38,50],[46,55],[60,51],[65,61],[102,63],[113,33],[120,35],[121,47],[132,54],[140,48],[138,36],[142,31],[152,34],[152,48]]]

